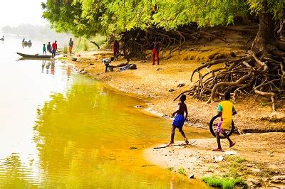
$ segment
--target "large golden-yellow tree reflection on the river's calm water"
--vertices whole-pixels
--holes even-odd
[[[110,96],[108,91],[101,93],[105,95],[100,95],[100,88],[90,83],[73,85],[66,97],[52,95],[51,100],[38,109],[34,141],[46,186],[128,188],[129,183],[122,182],[122,176],[128,174],[128,180],[140,183],[129,169],[124,172],[118,166],[119,156],[124,153],[120,146],[125,144],[117,146],[113,142],[125,140],[128,132],[118,133],[113,126],[106,125],[115,125],[114,120],[127,116],[123,107],[131,99],[116,94]],[[119,136],[123,139],[118,140]],[[124,163],[128,163],[128,157],[124,159]]]

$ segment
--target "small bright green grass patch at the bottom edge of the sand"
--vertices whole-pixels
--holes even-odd
[[[218,177],[217,175],[203,177],[202,181],[212,187],[222,187],[224,189],[234,188],[235,185],[246,185],[242,178]]]

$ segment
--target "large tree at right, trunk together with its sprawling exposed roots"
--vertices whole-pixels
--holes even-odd
[[[274,31],[276,20],[284,16],[285,1],[249,0],[248,4],[252,13],[259,14],[259,31],[249,54],[237,60],[216,60],[200,66],[192,73],[192,76],[199,73],[199,81],[188,92],[199,98],[210,95],[208,102],[216,95],[222,96],[225,90],[234,94],[255,92],[270,96],[275,111],[274,98],[282,97],[285,91],[285,45],[276,38]],[[209,70],[219,63],[224,63],[224,68],[201,74],[200,70]]]

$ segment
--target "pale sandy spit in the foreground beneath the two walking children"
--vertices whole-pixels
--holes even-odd
[[[224,152],[212,151],[217,145],[214,138],[197,139],[192,146],[149,148],[145,158],[177,173],[185,170],[185,175],[193,174],[195,178],[219,175],[244,178],[254,187],[285,186],[284,133],[243,134],[232,136],[232,140],[237,143],[232,148],[222,140]]]

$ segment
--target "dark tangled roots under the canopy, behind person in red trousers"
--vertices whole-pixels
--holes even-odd
[[[120,50],[124,56],[136,57],[144,59],[146,57],[147,49],[152,49],[152,42],[155,37],[160,41],[160,52],[166,58],[171,58],[172,53],[185,48],[185,42],[191,41],[197,43],[200,39],[204,38],[208,41],[218,39],[224,43],[229,42],[224,38],[221,31],[212,33],[206,30],[198,29],[195,27],[182,27],[175,31],[165,31],[160,28],[148,28],[147,31],[132,30],[120,33],[120,42],[123,43]],[[167,53],[165,55],[165,53]]]

